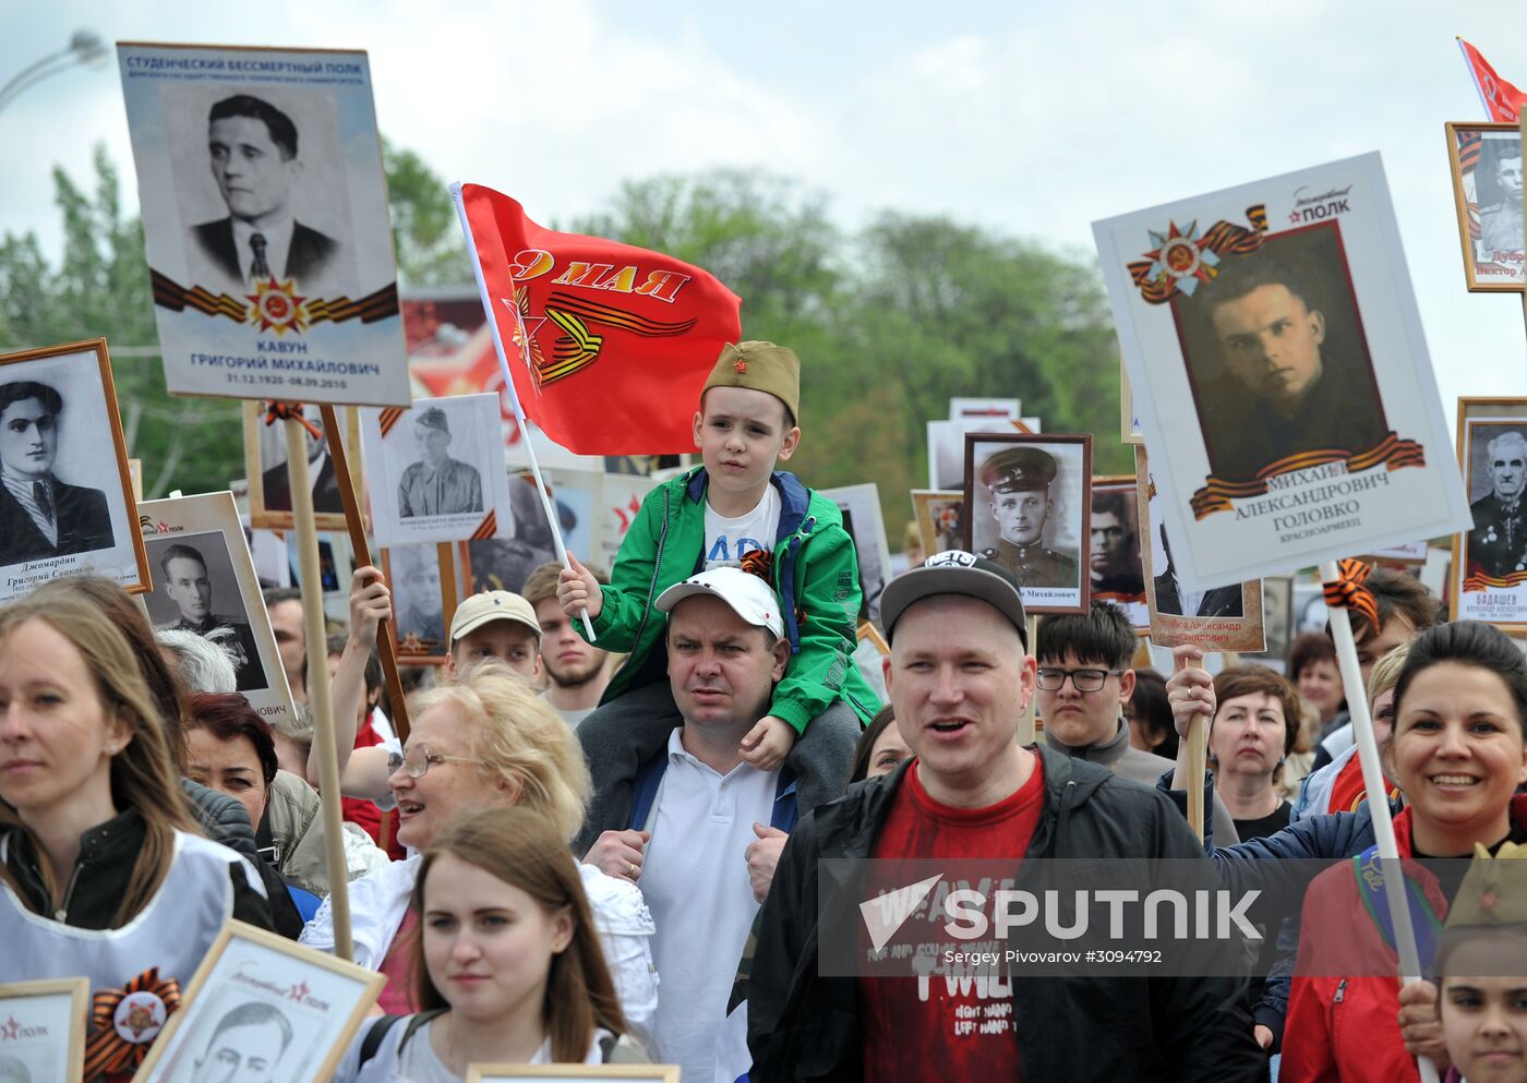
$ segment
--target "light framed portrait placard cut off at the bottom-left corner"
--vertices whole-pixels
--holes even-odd
[[[84,1078],[90,981],[0,984],[0,1080],[75,1083]]]

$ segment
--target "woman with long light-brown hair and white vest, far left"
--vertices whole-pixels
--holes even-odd
[[[63,588],[0,609],[0,973],[168,996],[231,917],[269,929],[263,886],[197,834],[119,625]],[[110,1016],[101,1037],[87,1078],[142,1059]]]

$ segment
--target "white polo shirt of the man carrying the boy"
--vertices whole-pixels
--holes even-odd
[[[753,823],[770,822],[779,771],[738,764],[722,776],[684,752],[681,733],[669,738],[637,883],[658,929],[657,1060],[683,1065],[684,1083],[710,1083],[716,1028],[759,909],[747,849]]]

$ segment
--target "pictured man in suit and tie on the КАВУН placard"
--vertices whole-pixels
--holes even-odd
[[[273,278],[312,289],[339,241],[293,217],[302,159],[292,118],[253,95],[224,98],[208,113],[208,153],[228,217],[191,229],[202,254],[246,287]]]

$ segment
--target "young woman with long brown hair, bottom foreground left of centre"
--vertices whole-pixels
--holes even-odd
[[[363,1028],[334,1083],[612,1059],[626,1020],[563,834],[541,813],[504,805],[435,839],[409,901],[421,1010]]]

